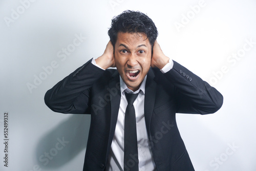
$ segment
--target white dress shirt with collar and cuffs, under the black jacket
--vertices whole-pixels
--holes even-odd
[[[94,59],[92,60],[92,63],[95,66],[99,67]],[[164,68],[162,68],[161,72],[168,72],[170,69],[173,68],[173,64],[173,60],[169,60]],[[132,90],[127,88],[126,84],[120,76],[121,101],[119,106],[115,134],[111,144],[111,151],[108,157],[108,163],[106,164],[107,171],[120,171],[124,168],[124,115],[126,106],[128,104],[124,92],[134,94],[139,93],[138,97],[133,103],[136,114],[139,171],[153,171],[156,168],[146,131],[146,123],[144,118],[144,96],[146,77],[147,76],[145,76],[145,78],[143,79],[139,90],[133,92]]]

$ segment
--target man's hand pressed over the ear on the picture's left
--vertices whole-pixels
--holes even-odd
[[[110,67],[115,67],[115,59],[114,59],[114,48],[111,41],[106,45],[106,49],[100,57],[95,59],[98,66],[101,68],[108,69]]]

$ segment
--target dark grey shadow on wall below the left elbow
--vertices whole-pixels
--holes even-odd
[[[36,147],[36,159],[41,168],[60,167],[87,146],[90,115],[72,115],[41,137]]]

